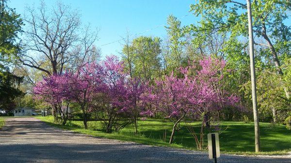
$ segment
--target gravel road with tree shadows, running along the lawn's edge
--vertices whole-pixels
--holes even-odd
[[[34,118],[0,129],[0,163],[213,163],[205,152],[151,147],[63,131]],[[218,163],[291,163],[290,156],[222,155]]]

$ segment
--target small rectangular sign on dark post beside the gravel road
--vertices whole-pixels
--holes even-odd
[[[217,158],[220,157],[218,133],[208,133],[207,137],[209,159],[214,159],[214,163],[217,163]]]

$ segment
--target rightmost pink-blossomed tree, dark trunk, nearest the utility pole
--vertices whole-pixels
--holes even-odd
[[[195,78],[200,85],[198,113],[203,115],[206,127],[210,127],[211,112],[215,113],[226,106],[234,106],[239,98],[224,89],[224,79],[228,71],[223,59],[204,58],[199,60]],[[192,66],[192,68],[194,65]]]

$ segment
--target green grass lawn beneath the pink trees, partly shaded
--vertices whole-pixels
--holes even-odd
[[[195,141],[185,124],[181,123],[181,130],[175,133],[174,144],[169,145],[168,140],[171,134],[172,122],[163,122],[162,120],[145,120],[139,121],[139,135],[133,134],[132,126],[122,129],[118,133],[104,133],[100,131],[100,122],[89,121],[88,130],[83,128],[82,121],[71,121],[67,125],[62,126],[53,122],[52,117],[38,117],[43,121],[78,133],[85,133],[93,136],[118,139],[122,141],[133,141],[146,145],[167,146],[173,148],[194,149]],[[200,130],[199,122],[193,122],[195,131]],[[287,130],[283,125],[273,126],[270,123],[260,123],[260,142],[261,151],[254,153],[254,124],[244,122],[220,122],[222,130],[225,130],[219,136],[220,150],[222,153],[229,154],[262,154],[275,155],[286,154],[291,151],[291,131]],[[163,132],[167,131],[167,139],[163,141]]]

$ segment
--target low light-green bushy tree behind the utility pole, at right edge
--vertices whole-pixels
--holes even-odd
[[[257,98],[259,119],[262,121],[282,123],[290,110],[290,101],[284,96],[284,89],[278,80],[279,74],[263,70],[257,77]],[[251,99],[251,82],[242,86],[245,98]]]

